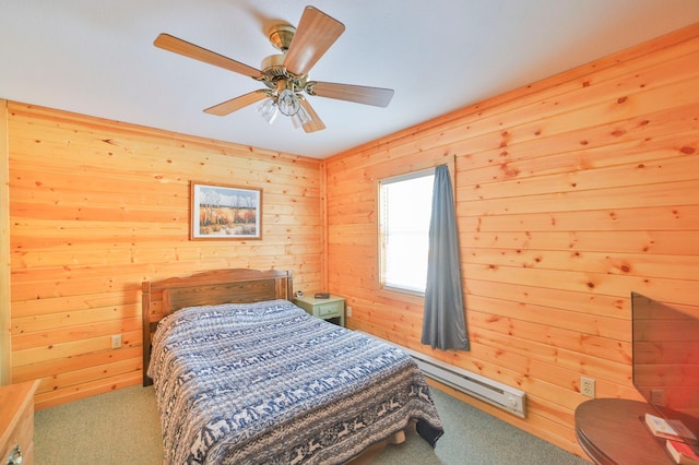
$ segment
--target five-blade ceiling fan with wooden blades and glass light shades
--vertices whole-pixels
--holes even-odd
[[[190,44],[169,34],[161,34],[156,47],[193,58],[209,64],[247,75],[263,83],[266,88],[226,100],[206,108],[211,115],[225,116],[257,102],[265,100],[258,111],[271,124],[276,116],[292,118],[296,128],[306,132],[325,129],[304,94],[335,98],[377,107],[387,107],[393,97],[390,88],[309,81],[308,72],[345,31],[344,24],[322,11],[306,7],[298,27],[279,24],[271,27],[269,38],[281,51],[262,60],[262,70],[244,64],[223,55]]]

